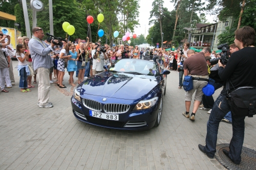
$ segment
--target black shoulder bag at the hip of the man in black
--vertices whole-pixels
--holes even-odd
[[[232,83],[231,85],[233,86]],[[234,88],[234,90],[229,93],[229,81],[227,81],[226,90],[232,115],[253,117],[256,113],[256,87],[243,86],[237,89]]]

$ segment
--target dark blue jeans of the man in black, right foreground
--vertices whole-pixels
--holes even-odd
[[[207,122],[206,145],[204,152],[209,156],[216,153],[217,134],[221,119],[230,111],[226,96],[220,94],[211,110],[209,120]],[[233,136],[229,144],[229,158],[239,164],[241,162],[241,152],[244,142],[244,123],[245,116],[236,117],[232,115]]]

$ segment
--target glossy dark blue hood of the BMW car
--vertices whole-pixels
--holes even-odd
[[[141,100],[160,82],[160,76],[108,73],[83,82],[80,93],[110,98]]]

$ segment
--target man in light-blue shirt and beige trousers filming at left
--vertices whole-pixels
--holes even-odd
[[[53,50],[55,43],[58,40],[52,40],[51,45],[42,41],[45,34],[41,28],[35,27],[32,29],[34,36],[29,40],[30,55],[33,60],[34,70],[37,72],[38,82],[38,103],[39,107],[51,108],[52,103],[49,102],[50,98],[50,68],[53,67],[51,56],[49,55]]]

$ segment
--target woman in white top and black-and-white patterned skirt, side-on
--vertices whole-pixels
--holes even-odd
[[[57,69],[59,70],[59,76],[58,76],[59,88],[66,88],[66,86],[62,84],[62,80],[65,74],[65,64],[64,64],[65,59],[72,57],[71,55],[68,55],[70,50],[71,50],[71,43],[67,43],[59,53],[59,60],[58,60],[58,66],[57,66]]]

